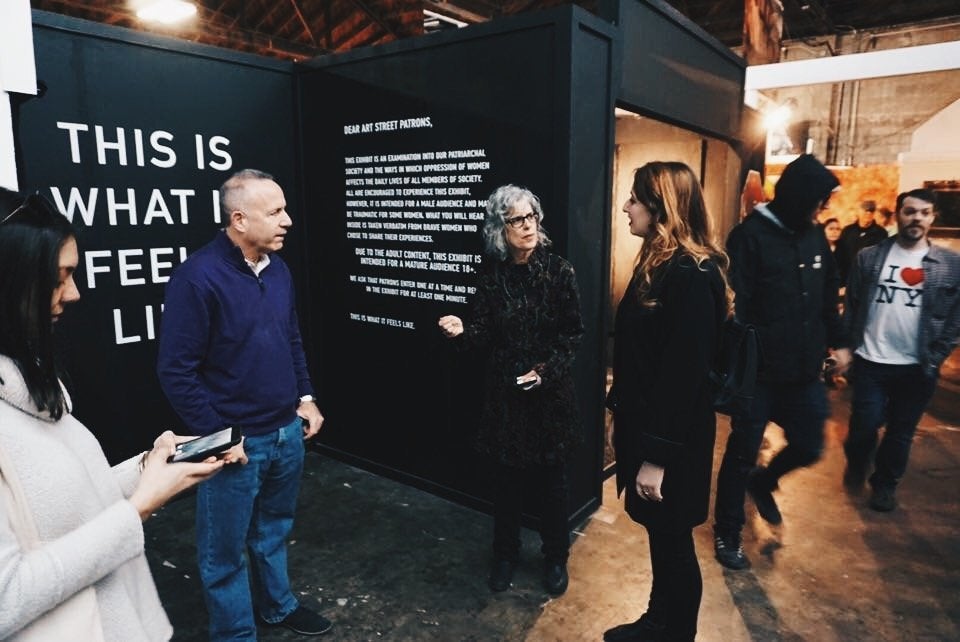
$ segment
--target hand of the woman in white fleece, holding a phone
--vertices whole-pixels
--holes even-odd
[[[200,463],[167,462],[167,458],[174,453],[180,441],[185,441],[185,438],[178,437],[168,430],[157,437],[153,442],[153,450],[144,455],[140,483],[137,484],[129,500],[140,513],[140,519],[143,521],[178,493],[216,474],[223,468],[227,457],[231,457],[232,461],[244,463],[246,461],[241,443],[228,450],[224,459],[208,457]],[[240,456],[234,458],[232,453],[236,449],[240,449]]]

